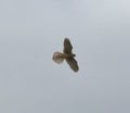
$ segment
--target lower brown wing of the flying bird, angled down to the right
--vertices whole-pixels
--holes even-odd
[[[78,63],[74,58],[66,59],[66,61],[74,72],[78,72],[79,70]]]

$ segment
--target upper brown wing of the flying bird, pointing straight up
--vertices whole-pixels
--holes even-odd
[[[72,54],[73,46],[68,38],[64,39],[64,53]]]

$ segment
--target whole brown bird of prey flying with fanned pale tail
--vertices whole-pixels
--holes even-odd
[[[57,64],[61,64],[64,60],[66,60],[66,62],[68,63],[68,65],[70,66],[70,68],[74,72],[78,72],[78,70],[79,70],[78,63],[74,59],[74,56],[76,56],[76,54],[72,53],[72,50],[73,50],[73,46],[72,46],[69,39],[65,38],[64,39],[63,53],[61,53],[61,52],[54,52],[52,60],[54,62],[56,62]]]

